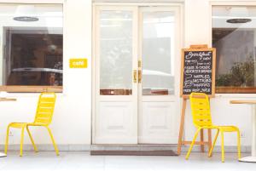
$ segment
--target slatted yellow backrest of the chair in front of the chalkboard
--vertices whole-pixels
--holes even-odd
[[[212,126],[211,110],[207,94],[192,93],[189,95],[189,100],[195,127]]]

